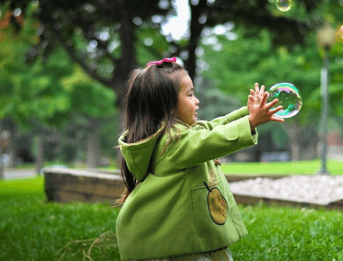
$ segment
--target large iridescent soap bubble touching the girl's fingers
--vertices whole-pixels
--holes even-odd
[[[294,85],[289,83],[276,84],[270,87],[268,93],[267,103],[273,102],[274,99],[279,100],[272,110],[279,105],[283,106],[283,110],[274,113],[276,117],[291,118],[301,110],[302,97]]]

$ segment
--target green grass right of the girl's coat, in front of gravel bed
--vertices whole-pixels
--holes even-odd
[[[232,245],[236,260],[343,260],[341,211],[241,206],[249,234]]]

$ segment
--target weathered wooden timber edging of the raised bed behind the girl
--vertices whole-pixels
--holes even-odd
[[[114,202],[121,197],[125,184],[119,172],[99,169],[45,168],[45,193],[53,202]],[[227,182],[248,178],[283,178],[286,175],[227,175]],[[234,193],[237,203],[255,204],[265,202],[277,205],[295,205],[309,208],[329,208],[343,210],[343,200],[320,205],[311,202],[291,202],[272,198]]]

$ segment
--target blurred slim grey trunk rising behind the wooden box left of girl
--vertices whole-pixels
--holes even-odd
[[[92,122],[88,132],[87,138],[87,167],[94,168],[99,164],[99,135],[98,126],[96,122]]]

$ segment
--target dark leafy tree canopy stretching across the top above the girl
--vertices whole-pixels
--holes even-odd
[[[320,2],[299,0],[297,3],[303,12],[312,12]],[[33,15],[41,23],[37,31],[40,42],[32,49],[48,55],[57,45],[62,46],[89,76],[116,92],[117,107],[124,94],[128,73],[138,65],[137,49],[142,41],[138,40],[140,35],[136,32],[143,28],[160,31],[166,15],[173,14],[171,0],[153,0],[144,4],[138,0],[42,0],[39,4],[38,1],[15,0],[10,3],[9,9],[21,10],[19,17]],[[190,13],[188,37],[172,40],[167,35],[165,38],[172,51],[168,45],[161,49],[155,44],[150,50],[151,58],[178,55],[183,51],[185,66],[192,77],[196,74],[196,49],[201,33],[207,27],[227,22],[246,24],[253,32],[264,27],[273,31],[275,45],[303,42],[304,34],[311,28],[309,19],[275,15],[268,0],[192,0]],[[20,30],[21,25],[13,22]],[[38,53],[33,51],[30,58]],[[113,69],[106,72],[105,67]]]

